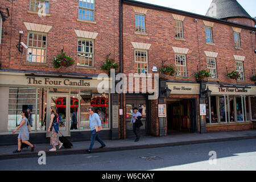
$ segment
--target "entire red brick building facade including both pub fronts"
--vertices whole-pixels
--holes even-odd
[[[17,123],[18,112],[27,108],[32,109],[35,122],[32,140],[45,142],[46,133],[40,129],[46,114],[44,109],[56,104],[55,98],[69,100],[60,104],[66,109],[62,110],[65,118],[71,118],[74,112],[77,114],[77,131],[69,130],[72,125],[71,121],[68,123],[69,119],[63,127],[73,141],[89,140],[87,110],[92,105],[96,105],[106,118],[102,131],[104,139],[134,136],[129,125],[133,107],[138,107],[144,116],[142,135],[255,128],[256,88],[250,79],[255,75],[255,19],[247,15],[213,18],[130,0],[68,1],[61,4],[49,0],[46,15],[39,16],[38,9],[34,9],[35,2],[0,2],[1,16],[6,16],[2,17],[0,98],[10,107],[1,110],[4,117],[0,122],[0,133],[2,138],[9,139],[7,143],[15,143],[16,135],[10,134],[15,126],[11,123]],[[9,17],[5,8],[9,9]],[[20,36],[20,42],[28,46],[28,49],[23,48],[23,55],[16,47]],[[35,39],[35,36],[38,37]],[[41,43],[39,36],[44,37],[42,47],[31,45],[35,40]],[[75,63],[68,68],[56,69],[52,60],[63,48]],[[34,53],[34,49],[45,52]],[[139,80],[138,93],[98,93],[97,76],[108,73],[101,66],[109,54],[121,63],[117,72],[127,76],[129,73],[151,73],[147,80],[151,79],[152,85],[154,76],[159,74],[158,99],[148,100],[149,90],[142,93],[145,86],[142,80]],[[173,65],[177,70],[175,75],[160,74],[159,68],[163,64]],[[158,71],[152,71],[153,67]],[[241,79],[226,76],[238,68],[243,75]],[[211,71],[212,77],[196,80],[195,73],[202,69]],[[30,83],[29,79],[37,81]],[[61,84],[56,85],[54,81]],[[89,86],[81,86],[82,81]],[[164,96],[166,86],[171,89],[169,96]],[[136,89],[135,85],[132,87]],[[209,97],[205,97],[207,87],[212,91]],[[26,88],[35,90],[32,104],[19,102],[24,98],[19,97],[20,93],[24,94],[24,90],[19,92],[19,89]],[[227,91],[223,92],[221,88]],[[233,91],[228,91],[232,88]],[[14,98],[16,104],[10,105]],[[99,104],[92,104],[97,98],[100,98]],[[75,104],[74,99],[79,103]],[[101,100],[105,104],[101,105]],[[159,117],[160,104],[166,106],[166,117]],[[206,104],[207,115],[200,115],[200,104]],[[123,115],[119,115],[119,109],[123,109]],[[69,114],[70,111],[73,113]],[[212,111],[217,123],[212,121]],[[238,120],[240,112],[242,120]]]

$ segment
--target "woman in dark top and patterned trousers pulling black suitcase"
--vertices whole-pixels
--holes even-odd
[[[49,123],[49,129],[48,133],[51,133],[51,139],[50,143],[52,148],[49,151],[56,151],[56,146],[59,144],[59,149],[63,146],[63,143],[60,142],[59,136],[58,136],[58,131],[59,131],[59,123],[57,122],[57,109],[55,106],[51,106],[50,109],[51,113],[51,122]]]

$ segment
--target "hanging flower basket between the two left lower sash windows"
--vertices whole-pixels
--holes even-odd
[[[72,66],[74,63],[75,63],[75,60],[73,60],[72,57],[67,56],[65,52],[53,57],[54,68],[60,68],[61,66],[68,68]]]

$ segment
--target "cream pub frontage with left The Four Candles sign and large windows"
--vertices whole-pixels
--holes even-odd
[[[60,131],[74,142],[90,140],[89,107],[100,115],[102,139],[118,138],[112,133],[112,127],[118,129],[116,122],[111,122],[111,98],[109,79],[105,79],[106,92],[98,93],[97,86],[102,83],[97,77],[35,74],[22,72],[0,72],[1,123],[0,145],[15,144],[16,135],[12,132],[18,126],[22,110],[30,109],[32,113],[31,142],[45,143],[49,140],[47,133],[51,106],[57,107],[61,115]],[[72,116],[77,125],[74,126]],[[111,127],[112,126],[112,127]]]

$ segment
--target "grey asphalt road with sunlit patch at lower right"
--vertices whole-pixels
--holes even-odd
[[[216,160],[215,157],[216,156]],[[0,170],[256,170],[256,139],[0,160]],[[41,158],[42,159],[42,158]],[[43,162],[43,160],[40,160]]]

